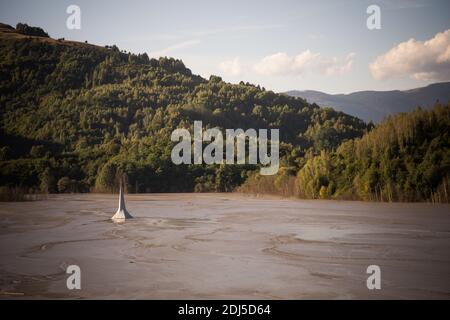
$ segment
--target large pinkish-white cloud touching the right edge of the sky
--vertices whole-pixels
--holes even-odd
[[[377,80],[408,76],[417,80],[450,79],[450,29],[427,41],[410,39],[369,65]]]

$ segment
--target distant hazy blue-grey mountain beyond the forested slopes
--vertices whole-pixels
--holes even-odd
[[[287,91],[285,94],[302,97],[322,107],[332,107],[365,121],[380,122],[388,115],[408,112],[417,106],[429,108],[436,101],[450,101],[450,82],[434,83],[426,87],[399,91],[358,91],[350,94],[327,94],[320,91]]]

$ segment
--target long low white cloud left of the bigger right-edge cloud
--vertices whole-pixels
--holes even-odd
[[[296,56],[278,52],[262,58],[253,69],[261,75],[300,75],[305,72],[319,72],[329,76],[350,72],[354,57],[354,53],[348,54],[344,59],[323,57],[320,53],[310,50]]]

